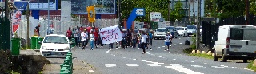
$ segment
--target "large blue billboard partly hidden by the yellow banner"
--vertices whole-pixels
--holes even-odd
[[[96,14],[116,14],[116,0],[71,0],[71,13],[87,14],[87,6],[95,6]]]

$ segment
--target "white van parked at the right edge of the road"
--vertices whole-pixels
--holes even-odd
[[[256,26],[223,25],[219,26],[218,39],[214,39],[214,61],[243,60],[256,57]]]

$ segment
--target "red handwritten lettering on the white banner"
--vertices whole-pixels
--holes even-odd
[[[102,40],[111,41],[119,38],[118,29],[110,29],[100,32],[102,34]]]

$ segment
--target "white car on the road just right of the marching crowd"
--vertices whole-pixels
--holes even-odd
[[[166,34],[168,32],[168,29],[166,28],[158,28],[155,30],[154,32],[154,39],[160,39],[160,38],[165,38],[166,37]]]

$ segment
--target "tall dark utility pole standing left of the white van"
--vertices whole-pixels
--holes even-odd
[[[197,35],[196,35],[196,47],[200,49],[200,25],[201,25],[201,0],[198,0],[198,16],[197,16]]]

